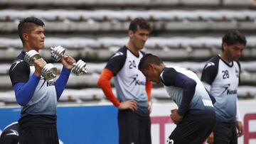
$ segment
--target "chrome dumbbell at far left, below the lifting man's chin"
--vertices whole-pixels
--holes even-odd
[[[41,59],[41,55],[39,55],[39,53],[36,50],[29,50],[28,52],[26,52],[26,55],[24,57],[25,62],[28,63],[28,65],[33,66],[34,65],[34,61]],[[53,64],[46,64],[42,71],[41,74],[45,79],[53,79],[56,77],[57,75],[57,67],[54,67]]]

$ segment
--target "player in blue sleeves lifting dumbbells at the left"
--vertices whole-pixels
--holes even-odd
[[[75,60],[64,56],[61,59],[63,70],[54,82],[41,77],[41,70],[46,65],[43,59],[35,60],[34,66],[24,61],[29,50],[44,48],[44,23],[38,18],[24,18],[18,24],[18,34],[23,43],[23,50],[11,65],[9,76],[16,95],[16,101],[22,106],[18,120],[19,143],[55,144],[58,143],[56,128],[57,101],[68,82],[70,70]]]

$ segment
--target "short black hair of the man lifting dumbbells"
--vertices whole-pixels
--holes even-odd
[[[20,23],[18,23],[18,35],[21,38],[21,41],[23,43],[23,33],[28,33],[33,28],[33,25],[36,26],[45,26],[43,21],[39,18],[35,17],[27,17],[23,18]]]

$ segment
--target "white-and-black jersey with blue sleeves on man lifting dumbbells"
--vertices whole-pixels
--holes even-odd
[[[57,113],[57,101],[68,82],[70,70],[63,67],[60,77],[54,82],[37,77],[35,67],[24,61],[26,52],[21,52],[9,69],[16,100],[21,105],[21,119],[26,116],[52,116]]]

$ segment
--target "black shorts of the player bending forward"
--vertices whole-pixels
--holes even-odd
[[[178,123],[166,144],[200,144],[213,131],[215,119],[186,120]]]

